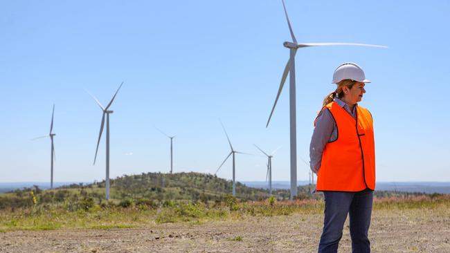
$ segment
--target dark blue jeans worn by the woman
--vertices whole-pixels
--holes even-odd
[[[352,252],[370,252],[368,232],[372,214],[373,191],[358,192],[324,191],[325,218],[318,252],[337,252],[342,229],[350,214],[350,237]]]

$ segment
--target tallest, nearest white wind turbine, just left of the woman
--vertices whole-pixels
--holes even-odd
[[[287,10],[285,6],[285,0],[282,0],[283,8],[285,10],[285,16],[287,26],[289,26],[289,32],[293,42],[285,41],[283,46],[289,48],[289,60],[285,66],[285,71],[282,73],[280,87],[276,95],[275,103],[273,103],[272,111],[267,120],[266,127],[269,126],[270,119],[272,118],[273,111],[275,110],[276,103],[280,97],[282,88],[285,84],[287,74],[289,73],[289,122],[290,122],[290,142],[291,142],[291,199],[297,196],[297,134],[296,134],[296,72],[295,72],[295,56],[298,48],[306,48],[309,46],[367,46],[375,48],[387,48],[386,46],[372,45],[372,44],[359,44],[359,43],[297,43],[297,39],[294,36],[294,32],[291,27],[291,22],[287,16]]]

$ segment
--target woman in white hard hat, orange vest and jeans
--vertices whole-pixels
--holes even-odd
[[[333,74],[335,91],[323,101],[309,147],[317,191],[325,196],[325,218],[318,252],[337,252],[350,214],[352,252],[370,252],[368,230],[375,189],[372,115],[357,103],[369,83],[357,64],[346,62]]]

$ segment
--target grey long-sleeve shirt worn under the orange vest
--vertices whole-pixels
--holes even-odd
[[[356,119],[358,104],[355,104],[353,111],[350,111],[350,106],[338,97],[335,97],[334,101]],[[316,127],[314,127],[314,132],[312,133],[311,144],[309,144],[309,166],[315,174],[317,174],[318,169],[321,167],[322,154],[325,145],[328,142],[336,140],[336,138],[336,122],[334,122],[330,110],[323,109],[317,115]]]

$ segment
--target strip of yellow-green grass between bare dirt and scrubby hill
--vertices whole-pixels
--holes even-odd
[[[50,229],[111,229],[145,227],[158,223],[205,223],[232,221],[249,216],[281,216],[291,214],[321,214],[323,200],[305,199],[240,202],[228,197],[224,202],[201,203],[165,201],[163,203],[78,203],[70,205],[35,205],[30,208],[3,209],[0,212],[0,232]],[[376,210],[437,210],[450,209],[448,195],[375,198]],[[73,211],[71,211],[73,210]]]

